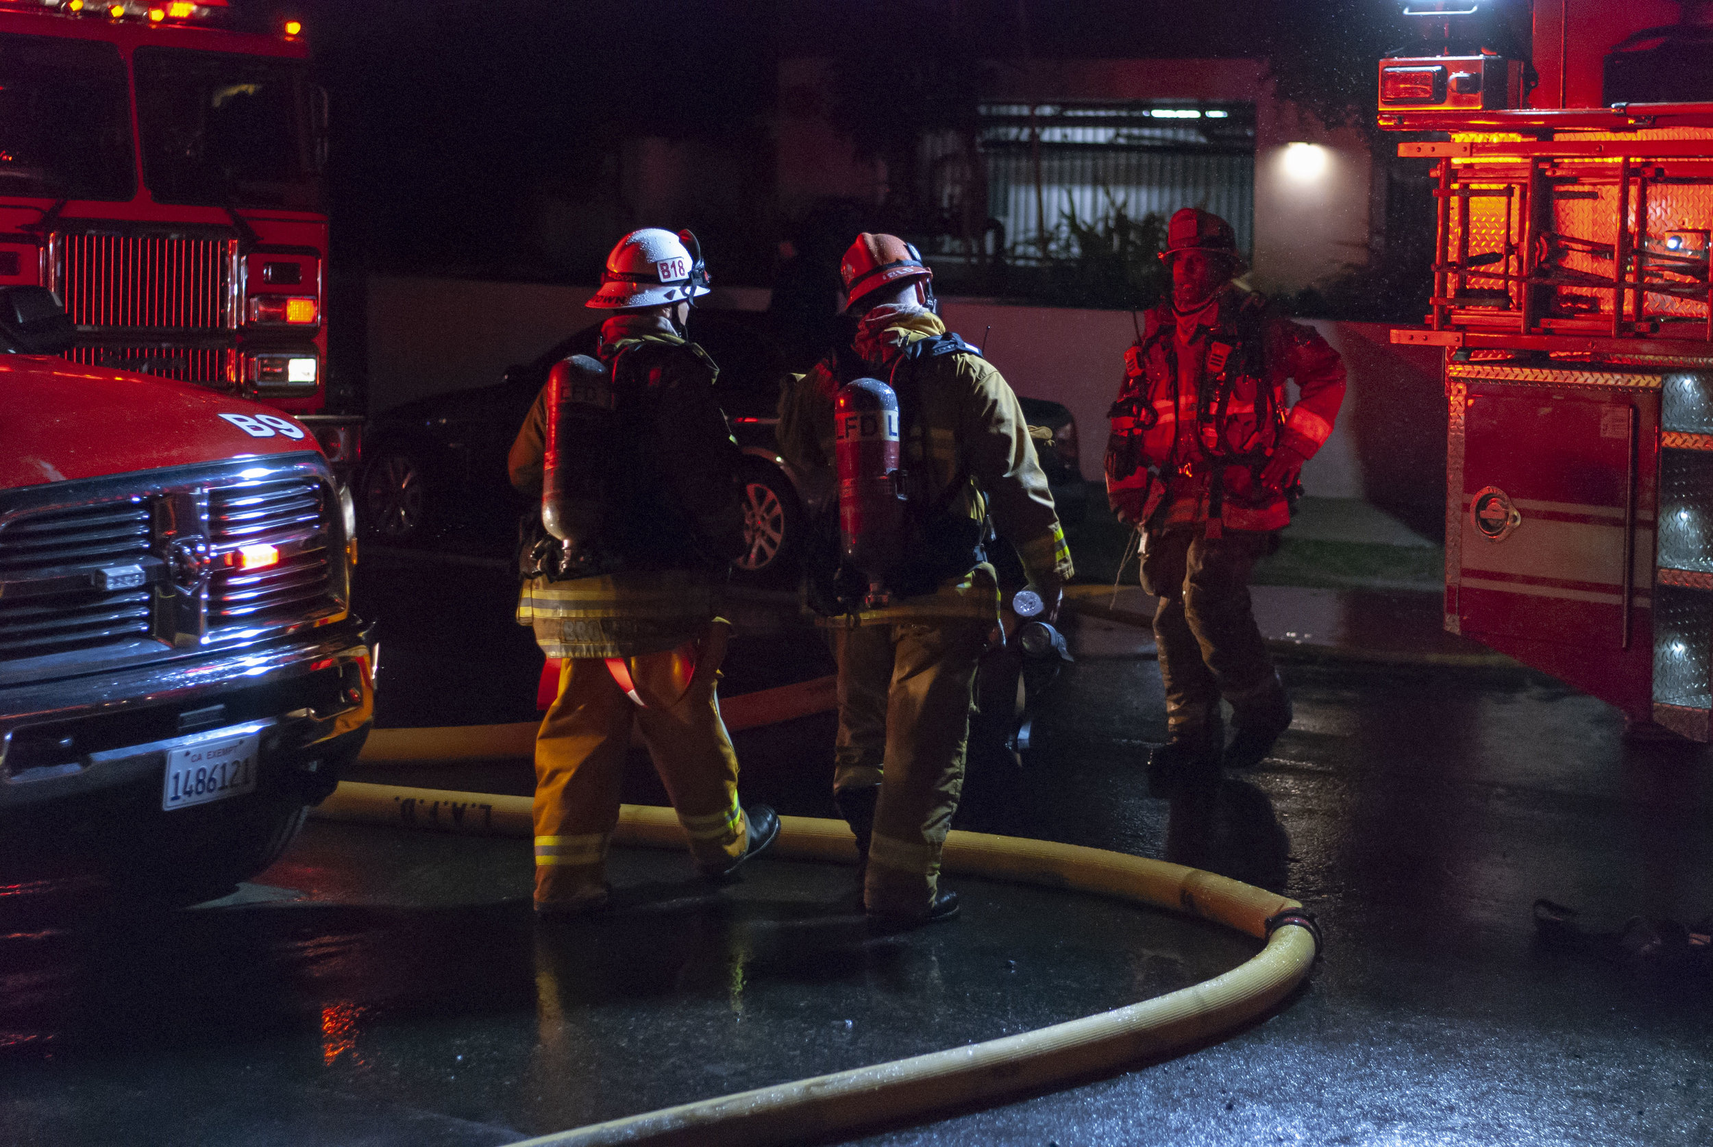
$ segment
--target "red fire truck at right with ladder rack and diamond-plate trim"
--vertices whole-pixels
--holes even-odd
[[[1677,7],[1412,0],[1437,51],[1381,62],[1379,123],[1437,164],[1393,341],[1446,356],[1446,628],[1706,741],[1713,27]]]

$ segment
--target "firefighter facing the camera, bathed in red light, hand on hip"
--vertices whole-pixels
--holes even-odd
[[[1167,688],[1167,772],[1261,764],[1292,709],[1249,599],[1249,574],[1290,524],[1302,464],[1326,442],[1345,366],[1314,327],[1232,279],[1232,226],[1185,207],[1167,224],[1172,294],[1146,312],[1112,406],[1107,496],[1143,538]],[[1285,382],[1298,387],[1295,404]],[[1225,745],[1220,698],[1237,733]]]

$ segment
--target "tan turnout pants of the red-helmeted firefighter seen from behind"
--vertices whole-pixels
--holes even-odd
[[[922,916],[963,791],[971,686],[990,623],[898,621],[834,630],[839,733],[833,789],[880,786],[863,902]]]

